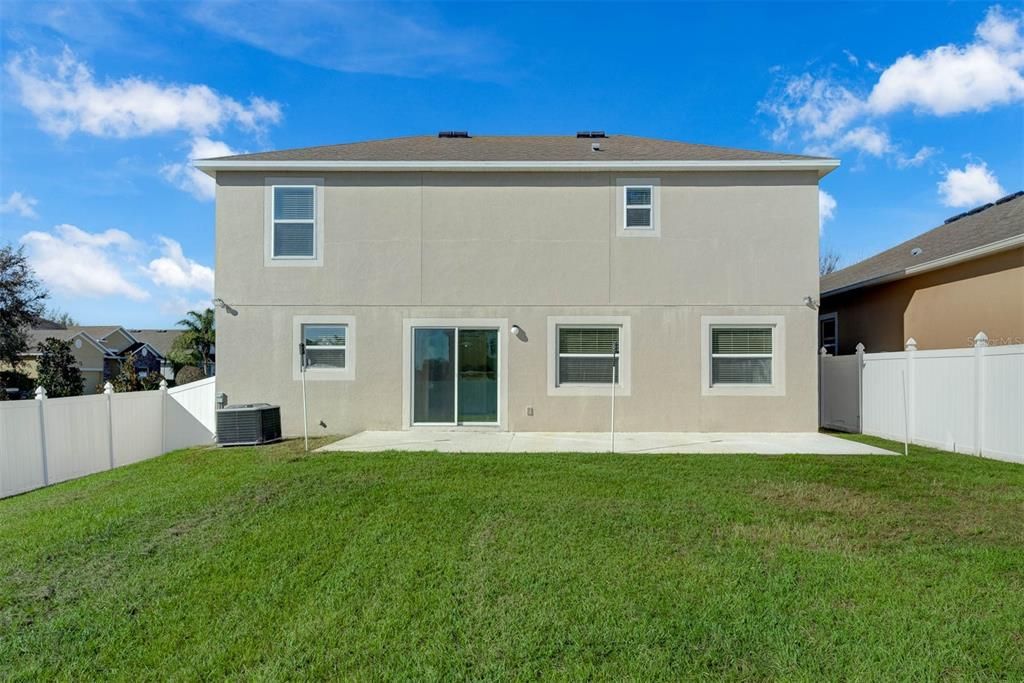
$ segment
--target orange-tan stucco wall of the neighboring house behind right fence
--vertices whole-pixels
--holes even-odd
[[[839,352],[963,348],[984,331],[991,344],[1024,343],[1024,248],[827,297]]]

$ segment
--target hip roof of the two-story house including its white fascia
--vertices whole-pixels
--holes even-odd
[[[593,145],[599,145],[595,151]],[[542,164],[559,168],[622,167],[649,163],[653,166],[750,164],[755,167],[796,165],[808,169],[831,170],[834,159],[801,155],[756,152],[709,144],[677,142],[635,135],[577,137],[574,135],[480,135],[438,137],[418,135],[367,142],[329,144],[275,152],[259,152],[217,157],[196,162],[207,172],[229,168],[406,168],[428,166],[437,169],[525,168]],[[298,166],[304,165],[304,166]],[[567,166],[565,166],[567,165]]]

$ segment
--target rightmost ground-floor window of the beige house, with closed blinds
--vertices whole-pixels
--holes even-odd
[[[772,353],[770,326],[713,326],[711,386],[771,385]]]

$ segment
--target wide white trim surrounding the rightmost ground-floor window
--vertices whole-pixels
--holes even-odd
[[[771,384],[712,384],[712,330],[716,328],[771,328]],[[700,393],[705,396],[784,396],[785,352],[785,317],[782,315],[702,315]],[[757,356],[764,357],[764,354]],[[744,356],[731,354],[731,357]]]

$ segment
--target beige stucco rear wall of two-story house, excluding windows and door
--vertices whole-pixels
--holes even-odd
[[[331,433],[402,426],[402,322],[432,317],[526,333],[504,428],[606,429],[607,398],[548,395],[549,315],[630,317],[620,429],[816,428],[816,173],[660,174],[658,238],[616,237],[615,174],[324,174],[322,267],[264,266],[264,177],[218,174],[216,296],[238,312],[217,311],[218,390],[281,403],[287,433],[300,314],[355,318],[355,379],[307,389]],[[700,317],[723,314],[783,316],[784,395],[701,395]]]

